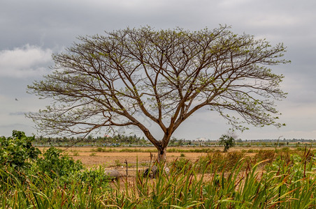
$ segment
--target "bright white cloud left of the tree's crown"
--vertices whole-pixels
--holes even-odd
[[[0,51],[0,77],[37,77],[45,73],[52,61],[52,50],[24,45]]]

